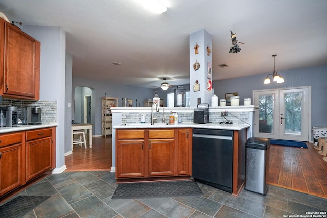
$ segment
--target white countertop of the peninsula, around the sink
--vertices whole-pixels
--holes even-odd
[[[242,130],[250,127],[249,124],[219,124],[219,123],[207,123],[207,124],[196,124],[196,123],[177,123],[177,124],[166,124],[166,123],[122,123],[113,126],[114,129],[145,129],[145,128],[202,128],[202,129],[220,129],[220,130]]]

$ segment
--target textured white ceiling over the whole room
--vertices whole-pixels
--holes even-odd
[[[325,0],[166,2],[162,14],[136,0],[0,0],[0,11],[25,25],[62,27],[73,76],[92,80],[189,84],[189,34],[201,29],[212,34],[213,80],[269,74],[273,54],[277,72],[327,64]],[[239,53],[228,52],[230,30],[244,42]]]

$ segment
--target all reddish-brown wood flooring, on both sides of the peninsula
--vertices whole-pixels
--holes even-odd
[[[307,145],[308,149],[272,145],[267,183],[327,198],[327,162],[313,143]],[[73,154],[65,157],[66,171],[108,171],[111,157],[111,136],[93,138],[92,148],[74,146]]]

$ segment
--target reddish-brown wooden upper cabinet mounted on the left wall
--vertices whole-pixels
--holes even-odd
[[[0,18],[0,95],[39,100],[40,42]]]

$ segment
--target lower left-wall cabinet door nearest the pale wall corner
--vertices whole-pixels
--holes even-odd
[[[26,142],[26,181],[52,168],[52,137]]]

